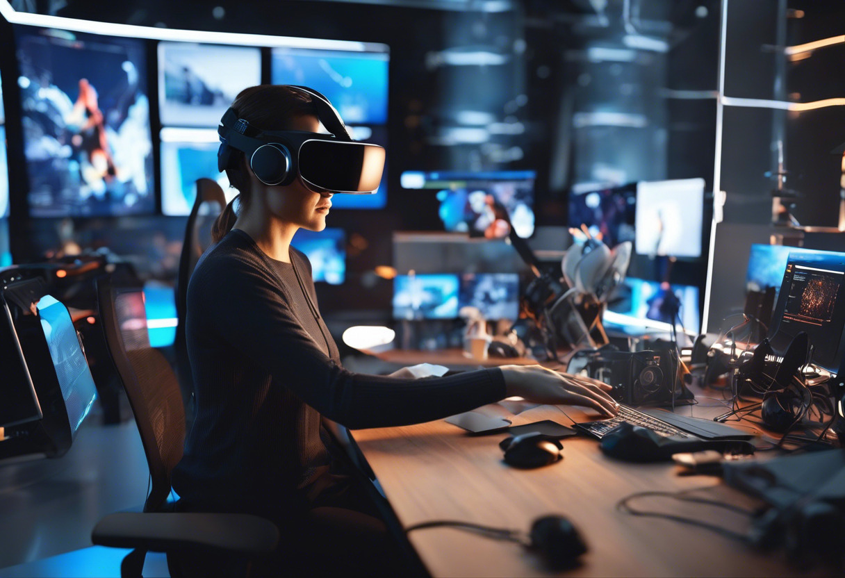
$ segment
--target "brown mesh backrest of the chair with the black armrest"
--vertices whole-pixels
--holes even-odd
[[[141,286],[97,282],[106,345],[132,406],[152,480],[144,511],[161,510],[173,467],[183,455],[185,409],[170,363],[150,346]]]

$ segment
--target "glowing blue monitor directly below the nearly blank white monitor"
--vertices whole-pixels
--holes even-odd
[[[630,328],[671,330],[672,325],[697,335],[701,330],[698,287],[626,277],[608,297],[605,324]],[[673,316],[677,309],[678,316]],[[653,323],[652,323],[653,322]]]

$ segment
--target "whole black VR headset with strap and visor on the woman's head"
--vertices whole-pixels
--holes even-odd
[[[259,130],[230,108],[217,128],[221,142],[217,168],[223,172],[232,166],[232,150],[241,150],[266,185],[288,185],[298,176],[319,193],[375,193],[384,170],[384,148],[352,140],[324,95],[304,86],[289,88],[311,96],[319,121],[331,134]]]

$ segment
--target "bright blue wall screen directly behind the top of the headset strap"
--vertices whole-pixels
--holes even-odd
[[[386,124],[389,60],[387,52],[274,48],[271,77],[319,91],[346,124]]]

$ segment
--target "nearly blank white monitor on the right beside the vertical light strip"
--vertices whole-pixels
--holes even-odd
[[[637,183],[638,254],[701,257],[704,185],[703,178]]]

